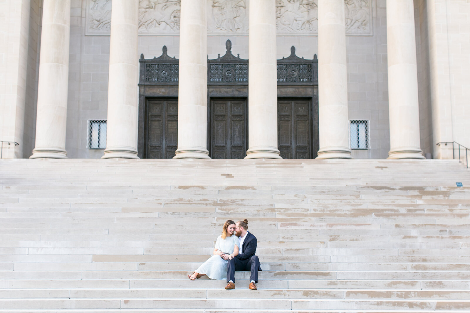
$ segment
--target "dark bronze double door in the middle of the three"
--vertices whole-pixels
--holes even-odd
[[[243,159],[246,155],[246,100],[211,100],[210,156]]]

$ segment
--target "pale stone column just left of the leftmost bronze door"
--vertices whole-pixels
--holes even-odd
[[[113,1],[111,9],[108,121],[103,159],[138,159],[139,0]]]

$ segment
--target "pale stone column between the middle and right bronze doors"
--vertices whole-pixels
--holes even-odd
[[[275,0],[250,0],[249,60],[245,159],[282,159],[277,148]]]

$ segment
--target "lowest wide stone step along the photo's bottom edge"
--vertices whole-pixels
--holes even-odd
[[[0,299],[0,307],[3,309],[283,309],[283,310],[407,310],[413,308],[420,312],[423,310],[466,310],[470,307],[470,300],[407,300],[407,299],[334,299],[332,300],[308,300],[308,299],[265,299],[265,298],[238,298],[234,300],[235,290],[232,290],[230,298],[158,298],[158,299]],[[324,311],[323,311],[324,312]],[[357,311],[356,311],[357,312]]]

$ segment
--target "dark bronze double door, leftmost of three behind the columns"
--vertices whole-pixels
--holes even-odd
[[[148,100],[145,123],[146,159],[171,159],[178,147],[178,100]]]

